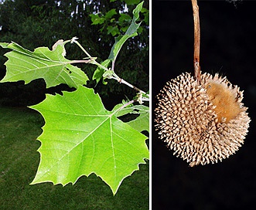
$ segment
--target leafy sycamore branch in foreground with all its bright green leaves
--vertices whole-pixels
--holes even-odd
[[[47,95],[46,100],[32,109],[38,110],[46,124],[43,134],[39,136],[41,161],[32,184],[52,181],[53,184],[67,185],[75,183],[82,175],[91,173],[100,176],[115,194],[121,181],[133,171],[138,170],[138,164],[145,163],[148,148],[145,135],[139,131],[148,129],[148,108],[142,105],[148,101],[148,94],[114,72],[114,62],[128,38],[137,35],[139,23],[136,21],[142,10],[142,3],[133,11],[133,19],[125,35],[118,36],[108,61],[104,65],[77,42],[77,38],[59,40],[52,50],[46,47],[36,48],[33,52],[19,46],[15,42],[1,42],[0,46],[12,49],[5,54],[7,73],[2,82],[32,80],[42,78],[46,87],[67,84],[77,90],[61,95]],[[87,55],[85,59],[66,59],[66,44],[76,44]],[[101,103],[101,98],[83,86],[88,77],[74,63],[90,63],[97,66],[97,80],[114,79],[132,87],[138,93],[133,100],[118,104],[108,111]],[[108,69],[108,64],[112,64]],[[95,74],[94,74],[95,75]],[[135,105],[136,102],[140,105]],[[129,107],[125,109],[125,107]],[[139,116],[128,123],[118,119],[127,113],[137,113]],[[122,112],[122,114],[120,113]],[[140,124],[140,127],[137,127]]]

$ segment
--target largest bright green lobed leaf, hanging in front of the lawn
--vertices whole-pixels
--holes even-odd
[[[63,96],[47,95],[32,106],[46,121],[39,136],[41,160],[32,184],[75,183],[94,173],[115,194],[121,181],[145,164],[148,148],[145,135],[105,110],[94,90],[84,86]]]

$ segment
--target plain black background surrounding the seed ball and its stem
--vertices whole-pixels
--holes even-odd
[[[199,1],[200,66],[244,90],[251,117],[244,145],[217,164],[189,168],[152,129],[153,209],[254,209],[256,2]],[[190,1],[152,2],[152,108],[168,80],[193,73],[193,12]]]

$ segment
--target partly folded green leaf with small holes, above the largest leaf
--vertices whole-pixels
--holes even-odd
[[[29,83],[32,80],[43,78],[46,87],[65,83],[76,87],[83,85],[88,80],[86,74],[77,66],[71,65],[73,61],[66,59],[64,42],[59,40],[53,46],[53,50],[47,47],[36,48],[34,52],[24,49],[17,43],[0,42],[3,48],[12,49],[5,53],[8,61],[5,63],[6,75],[3,82],[15,82],[24,80]]]

